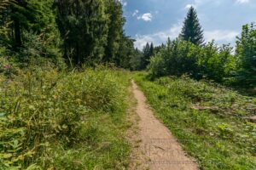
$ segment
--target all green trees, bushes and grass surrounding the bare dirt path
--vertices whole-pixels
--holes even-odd
[[[142,50],[125,22],[119,0],[0,0],[0,169],[132,169],[131,80],[200,169],[255,169],[253,19],[220,45],[190,7]]]

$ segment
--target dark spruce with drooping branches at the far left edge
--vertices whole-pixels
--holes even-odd
[[[35,50],[35,41],[48,46],[48,51],[54,51],[57,48],[58,30],[52,5],[52,0],[0,0],[0,32],[4,30],[0,45],[11,51],[15,49],[19,54],[24,51],[26,58],[31,57],[27,54],[32,51],[29,48]],[[35,51],[41,51],[38,52],[41,56],[49,56],[46,48],[38,47]]]

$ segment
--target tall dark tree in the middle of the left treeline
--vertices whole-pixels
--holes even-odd
[[[102,61],[108,37],[108,14],[102,0],[58,0],[57,23],[64,56],[76,65]]]

